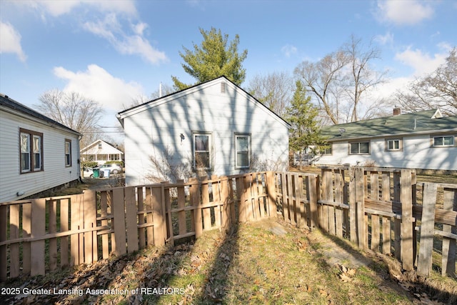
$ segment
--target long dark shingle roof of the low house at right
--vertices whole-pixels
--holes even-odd
[[[378,119],[325,126],[323,136],[328,141],[341,141],[379,136],[438,133],[457,131],[457,116],[442,116],[438,109],[385,116]]]

